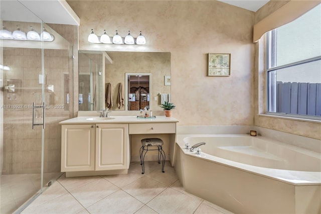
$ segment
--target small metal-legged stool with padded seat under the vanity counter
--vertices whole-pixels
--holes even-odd
[[[161,163],[161,157],[163,158],[162,172],[165,172],[164,171],[165,152],[163,150],[163,144],[164,144],[164,142],[159,138],[144,138],[141,140],[141,147],[139,150],[140,165],[141,165],[141,169],[142,169],[141,174],[145,173],[144,158],[145,158],[146,153],[150,150],[158,150],[157,161],[158,161],[158,163]],[[150,147],[157,147],[157,149],[156,148],[151,149]]]

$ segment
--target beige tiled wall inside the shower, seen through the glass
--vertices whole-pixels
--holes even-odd
[[[41,126],[32,129],[32,102],[42,100],[41,49],[4,48],[5,86],[15,84],[15,92],[4,91],[4,164],[3,174],[40,173]],[[46,129],[44,172],[60,172],[61,128],[58,124],[73,114],[73,72],[69,50],[44,50],[45,87],[54,85],[54,92],[45,89]],[[23,89],[24,88],[24,89]],[[69,93],[70,103],[67,103]],[[12,106],[11,106],[12,105]],[[16,106],[17,108],[13,108]],[[36,112],[41,123],[41,112]]]

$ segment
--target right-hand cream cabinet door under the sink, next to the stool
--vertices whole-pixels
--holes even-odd
[[[128,169],[128,124],[96,125],[96,170]]]

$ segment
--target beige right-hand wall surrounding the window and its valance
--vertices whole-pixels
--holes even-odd
[[[256,21],[260,21],[270,13],[273,13],[289,1],[270,1],[256,12]],[[266,110],[265,102],[265,37],[263,36],[258,43],[255,44],[255,68],[254,68],[254,125],[268,129],[278,130],[291,134],[301,135],[305,137],[321,139],[321,124],[313,122],[304,122],[297,120],[273,118],[258,116]]]

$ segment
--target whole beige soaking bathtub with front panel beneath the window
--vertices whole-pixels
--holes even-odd
[[[200,146],[202,152],[185,149]],[[235,213],[321,213],[321,155],[247,134],[178,135],[186,191]]]

